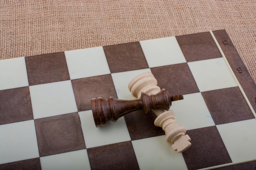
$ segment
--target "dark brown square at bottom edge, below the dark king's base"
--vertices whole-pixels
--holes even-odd
[[[131,141],[88,148],[92,170],[139,170]]]

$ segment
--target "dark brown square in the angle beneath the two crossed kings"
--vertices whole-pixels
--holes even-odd
[[[164,135],[164,130],[154,125],[157,118],[153,111],[145,114],[138,110],[124,116],[131,140]],[[140,129],[140,130],[138,130]]]

